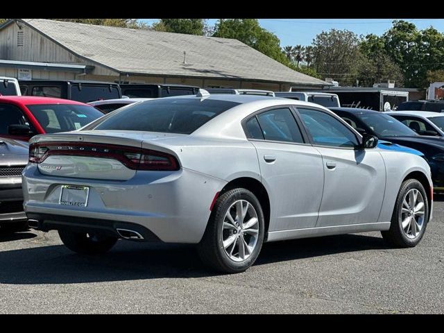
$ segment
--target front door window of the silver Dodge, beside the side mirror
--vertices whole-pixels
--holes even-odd
[[[355,135],[338,119],[322,111],[298,108],[314,144],[354,148],[359,142]]]

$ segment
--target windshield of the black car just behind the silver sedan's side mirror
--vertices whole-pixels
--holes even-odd
[[[417,135],[400,121],[379,112],[356,114],[377,137],[400,137]]]

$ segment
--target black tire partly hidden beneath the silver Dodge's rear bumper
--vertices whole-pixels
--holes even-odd
[[[71,230],[58,230],[60,239],[69,250],[82,255],[97,255],[105,253],[117,242],[117,237],[103,234],[88,234]]]

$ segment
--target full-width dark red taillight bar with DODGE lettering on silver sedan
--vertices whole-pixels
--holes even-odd
[[[31,163],[42,163],[50,155],[112,158],[133,170],[176,171],[179,169],[176,157],[151,149],[89,142],[41,142],[29,146],[29,162]]]

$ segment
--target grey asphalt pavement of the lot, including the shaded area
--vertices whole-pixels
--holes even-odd
[[[379,232],[264,244],[245,273],[192,246],[119,241],[83,257],[57,232],[0,233],[0,314],[444,313],[444,197],[416,248]]]

